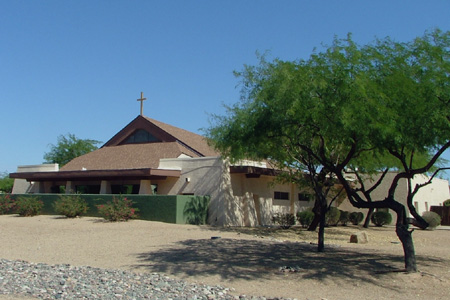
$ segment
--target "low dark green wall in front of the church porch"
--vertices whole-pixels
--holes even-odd
[[[38,197],[44,207],[44,215],[56,215],[53,202],[60,194],[14,194],[17,197]],[[97,205],[106,204],[119,195],[80,195],[88,204],[88,211],[84,216],[99,217]],[[160,221],[175,224],[206,224],[209,197],[192,195],[122,195],[133,201],[133,207],[138,208],[138,219]]]

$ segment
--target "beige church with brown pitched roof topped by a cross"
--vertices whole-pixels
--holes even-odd
[[[271,224],[274,212],[312,204],[294,184],[271,184],[266,163],[231,165],[203,136],[143,116],[138,100],[141,114],[101,148],[60,169],[19,167],[10,177],[30,184],[13,192],[209,196],[208,223],[232,226]]]

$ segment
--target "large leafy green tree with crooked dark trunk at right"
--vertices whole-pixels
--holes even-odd
[[[269,159],[299,171],[311,171],[311,162],[318,176],[339,181],[355,207],[395,211],[405,269],[416,271],[409,225],[427,223],[412,205],[416,187],[406,206],[394,195],[400,180],[429,172],[450,146],[449,58],[450,33],[439,30],[364,46],[348,36],[297,61],[262,57],[236,73],[241,101],[214,116],[207,135],[232,159]],[[386,177],[365,187],[360,174],[388,170],[398,174],[385,197],[372,199]]]

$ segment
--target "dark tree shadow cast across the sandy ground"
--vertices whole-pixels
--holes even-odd
[[[364,253],[349,248],[327,248],[318,253],[306,243],[234,239],[202,239],[179,242],[172,248],[138,254],[140,264],[131,266],[146,272],[180,276],[219,275],[224,280],[280,279],[286,275],[298,279],[345,279],[371,282],[403,267],[403,257]],[[420,258],[423,264],[448,263]],[[297,272],[281,272],[287,266]]]

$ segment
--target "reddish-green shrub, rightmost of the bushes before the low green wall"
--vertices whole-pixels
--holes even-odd
[[[111,222],[128,221],[137,218],[139,209],[132,208],[133,201],[125,197],[113,197],[111,202],[97,205],[98,212],[105,220]]]

